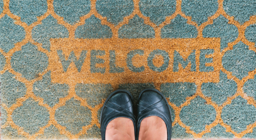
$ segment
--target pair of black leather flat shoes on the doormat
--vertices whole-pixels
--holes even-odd
[[[108,123],[118,117],[133,121],[135,140],[139,139],[140,123],[149,116],[163,119],[167,127],[167,140],[171,139],[171,111],[166,98],[156,89],[141,91],[137,102],[137,115],[133,112],[133,96],[128,90],[112,92],[104,103],[100,114],[101,139],[105,140]]]

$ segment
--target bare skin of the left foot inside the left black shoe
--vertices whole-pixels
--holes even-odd
[[[106,128],[106,140],[135,140],[133,121],[119,117],[110,121]]]

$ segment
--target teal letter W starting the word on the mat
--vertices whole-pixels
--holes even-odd
[[[85,61],[86,57],[86,50],[82,50],[79,59],[76,58],[74,51],[70,52],[70,55],[67,60],[65,60],[65,55],[62,54],[62,50],[57,50],[58,56],[60,58],[63,70],[66,72],[68,69],[68,66],[71,62],[75,63],[76,68],[78,69],[78,72],[80,72],[83,62]]]

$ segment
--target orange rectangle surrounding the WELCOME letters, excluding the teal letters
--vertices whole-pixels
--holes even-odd
[[[73,39],[59,38],[51,39],[49,52],[49,70],[51,78],[56,83],[66,83],[75,85],[76,83],[109,83],[114,86],[123,83],[174,83],[174,82],[219,82],[221,67],[220,38],[178,38],[178,39]],[[141,49],[144,55],[135,55],[133,64],[135,66],[144,66],[142,72],[132,72],[128,69],[126,59],[131,50]],[[147,65],[147,57],[150,52],[156,49],[168,52],[170,61],[169,66],[163,72],[151,70]],[[206,57],[213,57],[213,63],[206,66],[213,66],[214,71],[199,71],[200,49],[214,49],[214,54]],[[66,59],[70,52],[79,58],[82,50],[87,50],[85,61],[81,71],[78,72],[75,64],[72,62],[66,72],[63,71],[57,50],[62,50]],[[90,72],[90,50],[104,50],[105,55],[97,56],[105,60],[103,64],[97,64],[97,67],[105,67],[105,73]],[[109,73],[109,50],[115,50],[116,66],[123,67],[124,72]],[[173,72],[174,50],[178,51],[183,59],[186,59],[192,50],[196,50],[196,71],[190,71],[190,64],[183,69],[179,66],[178,72]]]

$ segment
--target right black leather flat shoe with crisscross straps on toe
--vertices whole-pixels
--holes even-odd
[[[137,108],[137,134],[139,139],[140,123],[149,116],[158,116],[163,119],[167,128],[167,140],[171,139],[171,110],[166,98],[156,89],[144,89],[138,98]]]

